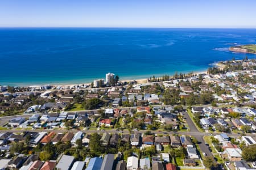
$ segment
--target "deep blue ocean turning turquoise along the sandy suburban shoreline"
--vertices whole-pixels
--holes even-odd
[[[256,29],[0,28],[0,84],[85,83],[203,71],[210,63],[254,54]]]

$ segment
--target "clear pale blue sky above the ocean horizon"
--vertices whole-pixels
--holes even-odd
[[[0,27],[256,28],[255,0],[1,0]]]

